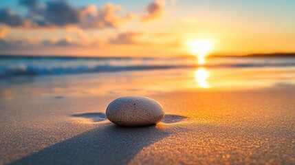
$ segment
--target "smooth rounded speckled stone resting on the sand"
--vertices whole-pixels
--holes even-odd
[[[121,126],[149,126],[164,118],[162,105],[142,96],[125,96],[109,103],[107,118]]]

